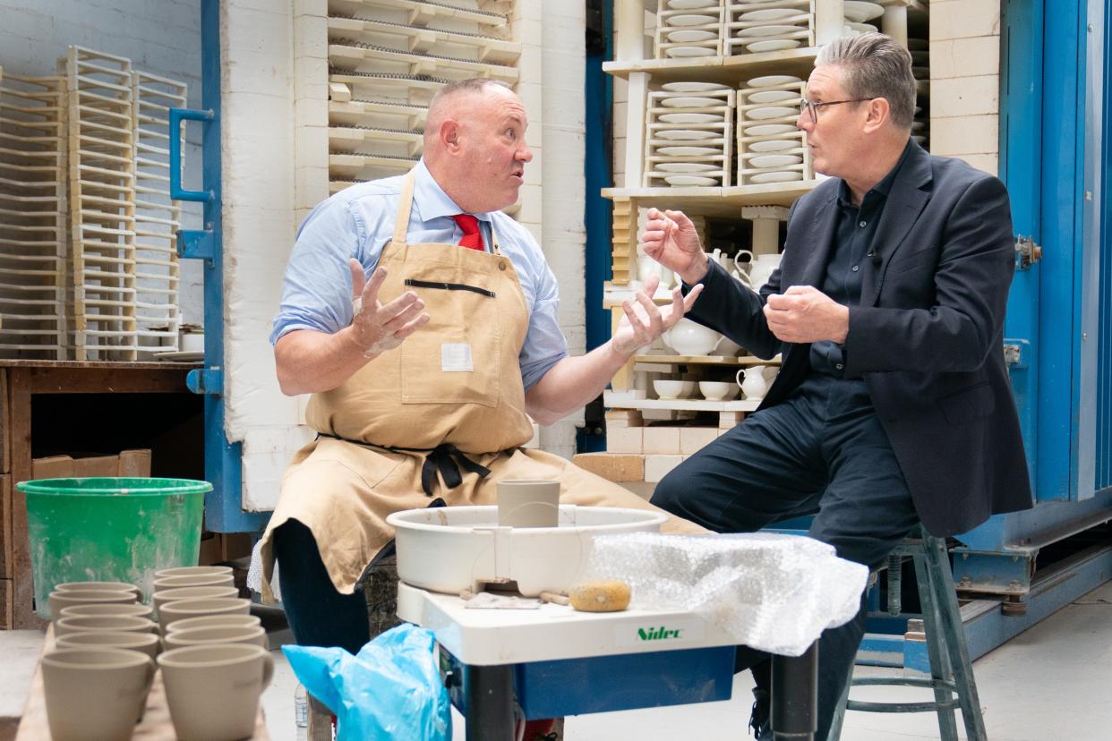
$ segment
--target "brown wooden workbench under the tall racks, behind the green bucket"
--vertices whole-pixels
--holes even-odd
[[[0,628],[42,625],[32,611],[27,508],[22,494],[14,492],[17,482],[31,478],[31,459],[68,452],[61,448],[117,453],[151,447],[151,438],[180,429],[193,410],[200,419],[203,401],[186,387],[186,375],[195,368],[170,362],[0,360]],[[143,394],[138,398],[143,403],[127,394]],[[171,402],[163,395],[155,405],[148,403],[148,394],[181,397]],[[190,444],[196,442],[199,451],[203,428],[200,421],[195,428],[196,434],[190,428],[189,437],[198,440]],[[156,460],[156,470],[158,464]],[[203,468],[198,472],[193,465],[189,471],[191,478],[203,477]],[[163,469],[156,475],[182,473]]]

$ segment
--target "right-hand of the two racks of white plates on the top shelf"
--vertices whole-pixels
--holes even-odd
[[[810,0],[729,2],[725,31],[727,53],[748,54],[813,47],[814,24]]]

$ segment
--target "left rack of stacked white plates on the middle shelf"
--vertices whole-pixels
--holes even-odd
[[[715,82],[667,82],[649,92],[645,187],[728,186],[733,111],[734,91]]]

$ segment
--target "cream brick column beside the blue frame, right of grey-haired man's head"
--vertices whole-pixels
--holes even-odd
[[[1000,0],[931,3],[931,152],[996,174]]]

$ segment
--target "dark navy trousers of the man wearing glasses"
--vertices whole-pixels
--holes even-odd
[[[652,501],[716,532],[815,513],[807,534],[870,568],[919,522],[864,382],[818,373],[673,469]],[[827,735],[864,630],[862,594],[857,617],[820,639],[816,739]],[[745,668],[768,688],[767,654],[741,647]]]

